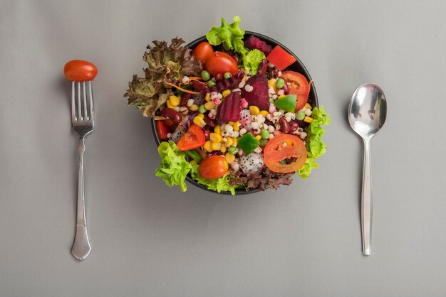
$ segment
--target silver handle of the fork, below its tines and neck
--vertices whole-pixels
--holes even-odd
[[[85,138],[79,139],[79,180],[78,180],[78,215],[76,220],[76,236],[74,237],[71,253],[79,260],[85,259],[91,252],[88,241],[87,222],[85,221],[85,197],[83,190],[83,153],[85,152]]]

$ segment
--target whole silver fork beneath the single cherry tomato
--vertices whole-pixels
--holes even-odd
[[[87,86],[88,85],[88,91]],[[77,95],[76,95],[77,90]],[[76,220],[76,236],[71,253],[79,260],[88,257],[91,252],[85,220],[85,197],[83,187],[83,153],[85,152],[85,136],[93,131],[93,91],[91,81],[71,82],[71,124],[79,134],[79,178],[78,178],[78,214]]]

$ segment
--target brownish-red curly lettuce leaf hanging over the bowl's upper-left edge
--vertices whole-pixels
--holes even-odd
[[[145,77],[133,75],[124,95],[128,97],[129,105],[142,110],[143,116],[155,117],[155,111],[173,94],[171,85],[176,85],[185,75],[199,75],[202,71],[202,64],[182,43],[185,41],[181,38],[173,38],[170,45],[165,41],[153,41],[155,46],[147,45],[143,55],[148,65],[144,69]]]

